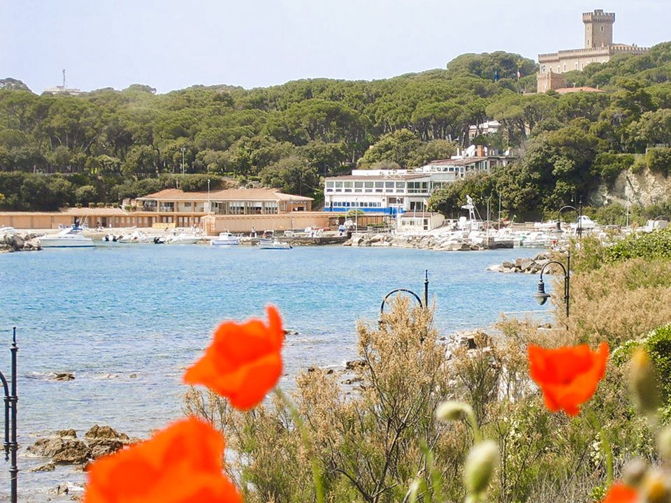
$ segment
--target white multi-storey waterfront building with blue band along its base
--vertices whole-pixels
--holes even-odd
[[[352,175],[326,178],[324,211],[397,214],[424,212],[433,191],[468,175],[489,173],[515,158],[489,155],[486,147],[471,145],[462,155],[432,161],[414,169],[353,170]]]

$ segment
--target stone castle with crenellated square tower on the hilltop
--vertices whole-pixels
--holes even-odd
[[[591,63],[605,63],[614,54],[644,54],[648,48],[613,43],[615,13],[601,9],[582,15],[585,24],[585,47],[538,54],[538,92],[565,88],[563,73],[582,70]]]

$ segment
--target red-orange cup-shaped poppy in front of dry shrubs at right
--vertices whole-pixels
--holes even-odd
[[[592,397],[605,375],[608,344],[602,342],[598,351],[586,344],[557,349],[531,344],[528,357],[531,379],[540,386],[547,408],[577,416],[579,406]]]

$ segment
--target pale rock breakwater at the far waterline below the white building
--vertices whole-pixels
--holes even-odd
[[[352,247],[399,247],[431,249],[438,251],[481,250],[484,244],[470,242],[453,235],[391,235],[391,234],[353,234],[352,239],[342,243]]]

